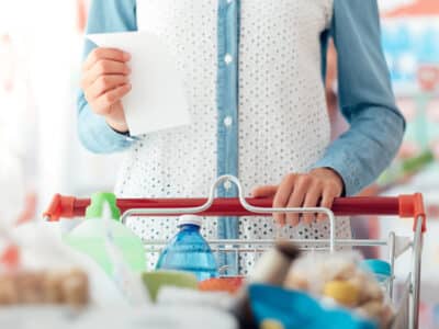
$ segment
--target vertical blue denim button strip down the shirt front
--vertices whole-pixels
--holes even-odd
[[[217,174],[238,177],[239,0],[219,0],[217,31]],[[236,186],[226,183],[218,188],[217,195],[221,197],[236,196]],[[236,217],[218,218],[218,238],[237,239],[238,224]],[[236,254],[219,256],[219,265],[235,263]],[[237,274],[236,271],[237,269],[229,269],[227,274]]]

